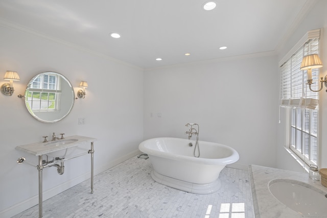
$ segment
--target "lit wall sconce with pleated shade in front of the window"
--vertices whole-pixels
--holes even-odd
[[[324,78],[323,77],[320,78],[321,87],[319,90],[315,91],[315,90],[311,89],[311,84],[312,84],[312,71],[311,70],[320,68],[320,67],[322,67],[322,62],[321,62],[318,54],[312,54],[312,55],[307,55],[307,56],[303,57],[300,70],[307,70],[307,82],[309,85],[309,89],[314,92],[320,91],[322,89],[323,83],[327,87],[327,75],[326,75]]]

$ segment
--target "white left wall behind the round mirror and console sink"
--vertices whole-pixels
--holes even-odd
[[[0,78],[6,70],[17,71],[20,76],[20,81],[14,82],[12,96],[0,94],[0,217],[10,217],[38,203],[36,167],[16,163],[21,156],[37,163],[37,157],[15,150],[16,146],[40,142],[42,136],[50,138],[52,132],[57,136],[65,133],[97,138],[96,173],[136,155],[143,140],[144,75],[143,69],[34,34],[5,27],[0,27],[0,33]],[[38,122],[28,113],[24,100],[17,98],[24,94],[30,79],[44,71],[66,76],[76,91],[81,80],[89,86],[86,98],[76,100],[72,112],[55,124]],[[5,82],[0,79],[0,85]],[[85,125],[78,125],[79,117],[85,118]],[[89,177],[90,155],[66,161],[62,176],[55,167],[45,168],[43,199]],[[96,185],[95,191],[100,191]]]

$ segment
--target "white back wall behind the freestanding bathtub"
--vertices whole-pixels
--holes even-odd
[[[145,139],[186,138],[184,125],[197,123],[200,140],[236,149],[239,164],[274,167],[279,95],[276,63],[275,56],[268,56],[147,70]]]

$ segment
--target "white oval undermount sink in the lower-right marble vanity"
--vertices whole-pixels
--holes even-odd
[[[268,184],[270,193],[295,212],[312,217],[327,214],[327,193],[296,180],[274,179]]]

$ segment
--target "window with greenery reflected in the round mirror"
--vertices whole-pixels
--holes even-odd
[[[30,83],[28,106],[33,111],[57,111],[60,106],[60,94],[60,77],[51,73],[41,74]]]

